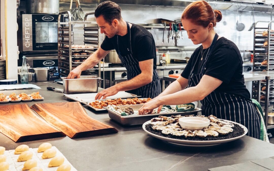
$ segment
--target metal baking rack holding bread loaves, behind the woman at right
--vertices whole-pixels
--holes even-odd
[[[274,69],[274,31],[271,30],[273,22],[258,21],[255,23],[253,71],[271,71]],[[263,27],[261,27],[262,25]],[[269,105],[270,102],[274,102],[274,76],[269,76],[269,72],[267,72],[266,79],[261,80],[261,82],[254,81],[252,87],[252,98],[264,104],[264,119],[267,129],[274,128],[274,125],[267,126]]]

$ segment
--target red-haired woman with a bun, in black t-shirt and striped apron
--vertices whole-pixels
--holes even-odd
[[[145,103],[139,113],[161,105],[201,100],[202,115],[213,114],[243,124],[249,136],[259,139],[260,117],[244,85],[241,54],[232,41],[218,36],[213,29],[221,19],[221,11],[213,10],[206,1],[192,2],[185,8],[183,28],[193,44],[202,45],[194,51],[181,76]]]

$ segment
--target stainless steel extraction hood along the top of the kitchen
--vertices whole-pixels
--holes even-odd
[[[80,0],[81,3],[101,3],[104,0]],[[112,0],[117,4],[133,4],[133,5],[160,5],[186,7],[189,3],[195,0]],[[60,2],[70,2],[70,0],[60,0]],[[240,10],[256,12],[271,12],[274,0],[210,0],[207,1],[212,7],[221,10]]]

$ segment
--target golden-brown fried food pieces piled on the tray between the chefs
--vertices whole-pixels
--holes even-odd
[[[124,106],[124,105],[138,105],[138,104],[144,104],[146,102],[149,102],[151,98],[142,98],[139,99],[137,97],[135,98],[127,98],[127,99],[121,99],[116,98],[114,100],[95,100],[94,102],[89,103],[90,106],[93,106],[96,109],[102,109],[103,106],[107,105],[116,105],[116,106]]]

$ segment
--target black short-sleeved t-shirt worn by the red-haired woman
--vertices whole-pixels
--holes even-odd
[[[205,49],[202,51],[202,53],[205,52],[202,60],[200,50],[201,46],[194,51],[187,66],[181,74],[182,77],[188,79],[193,67],[193,74],[197,74],[201,69],[201,63],[206,58],[205,55],[207,50]],[[198,61],[195,65],[197,58]],[[215,91],[250,99],[250,93],[244,85],[242,64],[243,61],[238,47],[232,41],[221,37],[217,40],[214,49],[207,59],[206,71],[204,74],[223,81]]]

